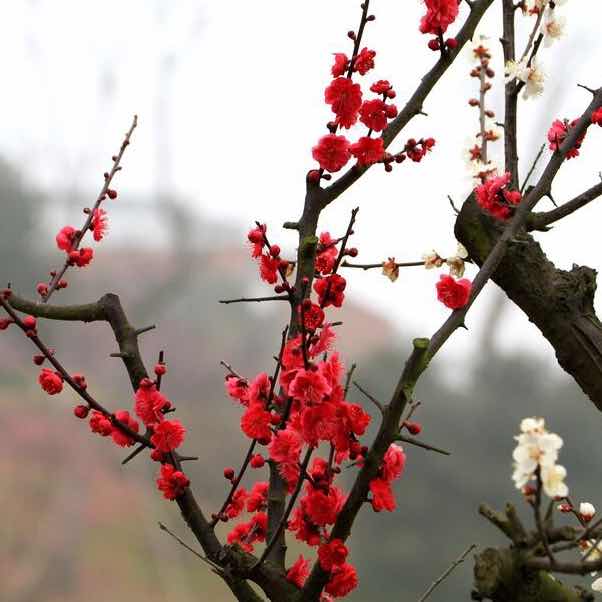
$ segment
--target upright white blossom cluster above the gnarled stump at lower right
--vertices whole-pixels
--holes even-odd
[[[562,439],[545,428],[543,418],[525,418],[520,424],[521,433],[515,437],[517,446],[512,452],[514,472],[512,480],[522,489],[536,478],[539,470],[541,484],[549,497],[566,497],[568,487],[564,483],[566,469],[556,464]]]

